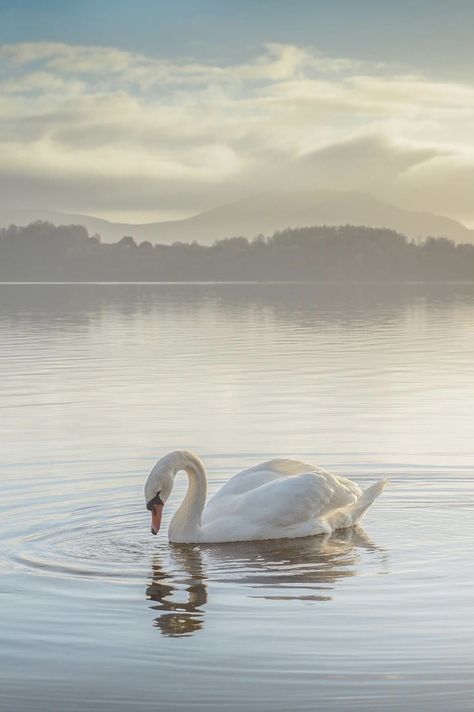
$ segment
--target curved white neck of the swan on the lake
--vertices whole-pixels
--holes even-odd
[[[201,460],[191,452],[176,453],[172,464],[173,475],[184,470],[188,476],[188,490],[169,526],[171,541],[192,543],[199,540],[201,515],[207,497],[207,475]]]

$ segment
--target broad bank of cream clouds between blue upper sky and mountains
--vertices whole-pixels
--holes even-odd
[[[368,190],[474,219],[474,87],[267,44],[253,61],[0,46],[0,191],[144,219],[266,189]]]

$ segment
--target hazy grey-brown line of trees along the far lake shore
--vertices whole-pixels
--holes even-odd
[[[408,240],[393,230],[343,225],[271,237],[101,243],[78,225],[0,229],[0,281],[472,281],[474,245]]]

